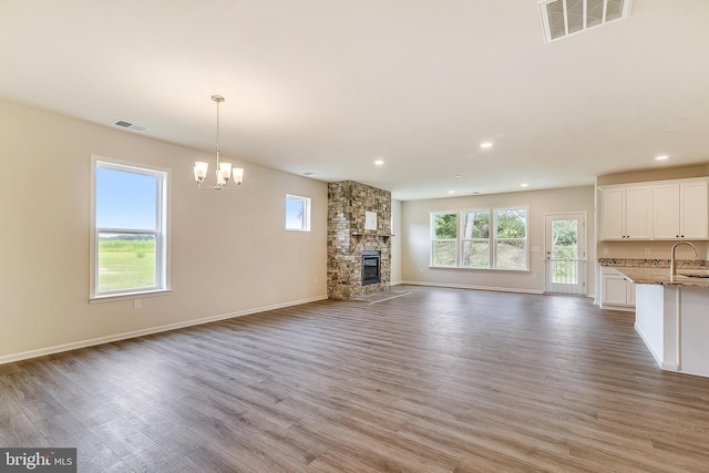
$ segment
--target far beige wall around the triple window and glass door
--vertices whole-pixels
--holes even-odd
[[[530,207],[530,271],[432,268],[430,264],[432,212],[464,210],[497,206]],[[587,294],[595,290],[594,186],[518,192],[482,196],[410,200],[402,203],[402,279],[404,282],[513,291],[544,291],[545,214],[585,212],[587,225]],[[534,275],[537,275],[535,278]]]

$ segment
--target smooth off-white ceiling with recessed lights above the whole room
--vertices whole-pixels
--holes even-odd
[[[258,163],[404,200],[587,185],[709,161],[709,1],[545,43],[536,0],[0,0],[4,99],[210,150],[215,93],[245,183]]]

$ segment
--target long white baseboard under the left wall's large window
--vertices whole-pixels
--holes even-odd
[[[275,304],[273,306],[258,307],[254,309],[240,310],[238,312],[220,313],[218,316],[204,317],[202,319],[187,320],[183,322],[168,323],[166,326],[151,327],[142,330],[110,335],[106,337],[92,338],[89,340],[73,341],[71,343],[56,345],[53,347],[40,348],[37,350],[21,351],[19,353],[4,354],[0,357],[0,364],[12,363],[14,361],[29,360],[31,358],[44,357],[47,354],[61,353],[62,351],[76,350],[80,348],[93,347],[113,341],[126,340],[130,338],[144,337],[146,335],[160,333],[169,330],[183,329],[186,327],[199,326],[203,323],[216,322],[218,320],[232,319],[234,317],[243,317],[251,313],[264,312],[267,310],[281,309],[284,307],[299,306],[301,304],[315,302],[327,299],[327,296],[317,296],[308,299],[292,300],[290,302]]]

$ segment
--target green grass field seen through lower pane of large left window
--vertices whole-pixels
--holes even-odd
[[[155,239],[99,240],[99,291],[155,286]]]

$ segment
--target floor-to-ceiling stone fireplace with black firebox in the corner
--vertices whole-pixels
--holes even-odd
[[[388,290],[391,193],[353,181],[328,185],[328,297]]]

